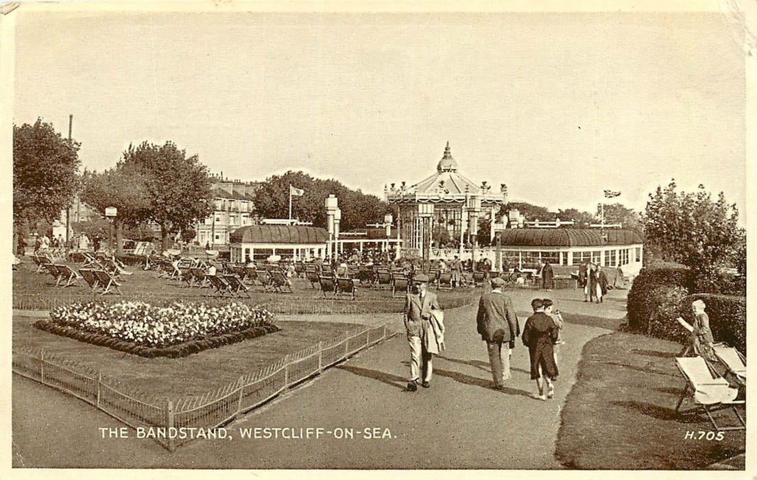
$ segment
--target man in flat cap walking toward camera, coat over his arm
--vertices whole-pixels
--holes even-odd
[[[439,354],[440,344],[444,341],[441,336],[444,326],[440,331],[435,317],[441,309],[436,294],[427,288],[428,276],[419,273],[413,277],[413,293],[407,294],[405,299],[404,320],[410,344],[410,382],[407,389],[410,391],[417,391],[419,382],[424,388],[431,386],[431,357]]]

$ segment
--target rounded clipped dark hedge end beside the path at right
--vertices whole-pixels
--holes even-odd
[[[659,296],[672,295],[672,292],[660,294],[658,290],[662,286],[679,287],[688,291],[688,269],[678,263],[662,262],[652,263],[641,269],[631,285],[631,291],[628,292],[628,326],[631,329],[650,334],[650,319],[666,315],[665,312],[657,311],[662,305]],[[679,295],[680,293],[678,292]]]

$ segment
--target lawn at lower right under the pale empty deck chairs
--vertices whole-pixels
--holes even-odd
[[[714,428],[704,414],[674,411],[684,389],[674,362],[679,351],[681,344],[626,332],[588,342],[562,412],[560,463],[570,469],[702,469],[746,450],[743,430],[723,432],[721,441],[685,439],[687,432],[698,437]],[[737,424],[729,410],[714,416],[719,425]]]

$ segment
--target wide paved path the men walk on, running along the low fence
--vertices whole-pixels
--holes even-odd
[[[442,293],[441,295],[444,295]],[[553,401],[531,398],[528,351],[519,344],[513,378],[494,391],[475,308],[447,312],[447,351],[435,359],[431,388],[404,390],[409,349],[403,335],[329,369],[226,426],[231,440],[198,440],[170,454],[148,439],[102,439],[120,423],[51,388],[14,376],[14,466],[142,468],[559,469],[554,443],[560,410],[575,382],[581,348],[625,315],[625,291],[585,304],[578,291],[515,291],[519,316],[536,296],[567,315],[561,378]],[[322,428],[322,438],[240,438],[239,429]],[[366,439],[364,429],[389,438]],[[335,438],[352,429],[354,438]],[[388,431],[388,432],[387,432]],[[371,430],[373,433],[373,430]]]

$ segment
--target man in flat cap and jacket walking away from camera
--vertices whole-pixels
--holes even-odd
[[[520,326],[512,299],[502,292],[505,281],[500,277],[491,279],[491,292],[481,295],[478,302],[476,323],[481,340],[486,341],[486,348],[491,363],[491,376],[494,388],[501,389],[505,380],[510,378],[510,350],[515,346],[520,335]],[[505,345],[505,355],[502,346]]]

